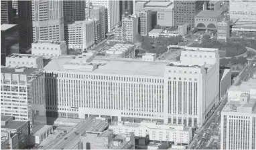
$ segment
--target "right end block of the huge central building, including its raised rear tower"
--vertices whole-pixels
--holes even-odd
[[[164,118],[174,124],[202,126],[218,103],[218,49],[187,47],[180,60],[166,66],[164,110],[169,117]]]

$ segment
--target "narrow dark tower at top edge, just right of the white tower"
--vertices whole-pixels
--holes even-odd
[[[133,0],[121,0],[120,4],[120,21],[123,15],[133,15]]]

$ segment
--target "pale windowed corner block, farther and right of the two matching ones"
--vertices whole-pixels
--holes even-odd
[[[32,43],[31,53],[32,55],[41,55],[41,56],[67,55],[66,42],[38,40]]]

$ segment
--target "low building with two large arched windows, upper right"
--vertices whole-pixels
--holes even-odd
[[[220,20],[222,11],[202,10],[194,17],[194,27],[202,30],[217,29],[217,23]]]

